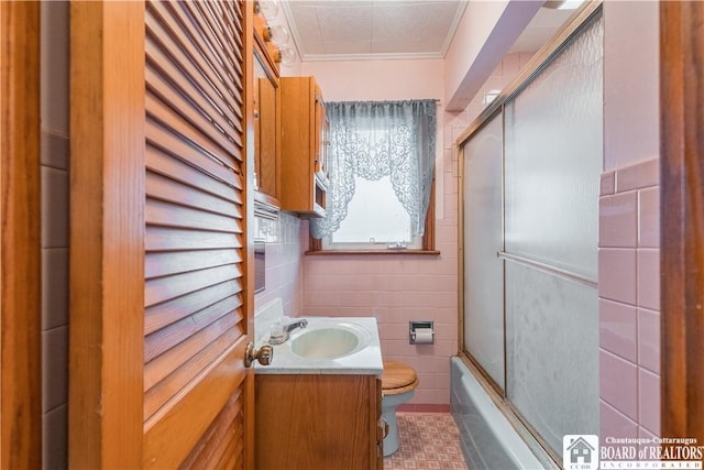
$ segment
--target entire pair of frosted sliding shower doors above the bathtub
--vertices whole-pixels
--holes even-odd
[[[554,455],[598,434],[596,15],[464,144],[464,347]]]

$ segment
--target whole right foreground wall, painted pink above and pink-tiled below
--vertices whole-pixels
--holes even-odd
[[[601,437],[660,434],[659,6],[604,3]]]

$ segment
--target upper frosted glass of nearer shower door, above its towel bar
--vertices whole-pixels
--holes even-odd
[[[506,251],[596,278],[602,20],[506,106]]]

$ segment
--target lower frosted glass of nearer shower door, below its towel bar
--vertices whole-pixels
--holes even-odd
[[[597,308],[593,287],[506,263],[507,394],[558,455],[598,434]]]

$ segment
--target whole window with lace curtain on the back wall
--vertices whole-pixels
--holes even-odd
[[[326,106],[330,185],[311,251],[432,251],[435,100]]]

